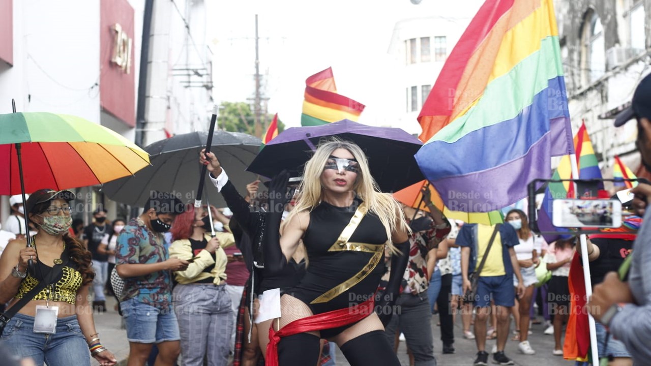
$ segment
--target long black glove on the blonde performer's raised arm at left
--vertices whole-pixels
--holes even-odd
[[[284,205],[288,203],[287,183],[289,173],[281,171],[271,179],[269,184],[269,212],[265,219],[265,229],[262,251],[264,253],[264,269],[268,274],[281,272],[287,265],[287,259],[281,250],[280,227],[283,219]]]

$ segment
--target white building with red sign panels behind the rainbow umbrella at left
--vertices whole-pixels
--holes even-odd
[[[0,113],[14,98],[19,112],[77,115],[134,141],[146,3],[0,0]],[[143,146],[206,130],[212,109],[204,1],[152,3]],[[82,192],[88,207],[118,214],[99,187]],[[4,196],[0,221],[7,215]]]

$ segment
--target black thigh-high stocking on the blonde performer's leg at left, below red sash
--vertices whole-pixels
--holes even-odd
[[[278,343],[278,365],[316,365],[321,350],[320,339],[309,333],[281,338]]]

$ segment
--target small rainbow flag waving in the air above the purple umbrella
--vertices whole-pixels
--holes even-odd
[[[337,94],[332,68],[326,68],[305,80],[301,126],[319,126],[342,119],[357,122],[364,107],[355,100]]]

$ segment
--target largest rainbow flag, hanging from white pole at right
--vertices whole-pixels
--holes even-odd
[[[573,152],[553,0],[487,0],[418,117],[422,173],[450,210],[488,212]]]

